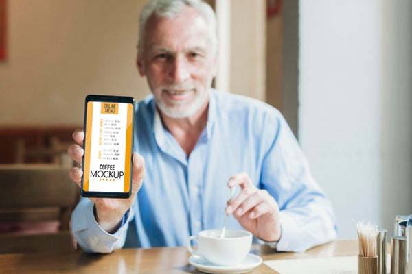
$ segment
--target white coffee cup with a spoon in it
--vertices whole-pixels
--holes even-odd
[[[192,255],[205,258],[218,266],[240,264],[251,250],[252,234],[246,230],[227,229],[225,238],[220,238],[222,229],[210,229],[199,232],[199,236],[187,239],[186,249]],[[196,240],[198,248],[194,250],[191,242]]]

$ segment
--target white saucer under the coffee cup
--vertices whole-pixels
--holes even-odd
[[[187,259],[192,266],[196,267],[198,271],[202,271],[205,273],[230,273],[230,274],[238,274],[238,273],[247,273],[254,269],[255,267],[262,264],[262,258],[255,254],[249,253],[247,257],[240,263],[235,266],[217,266],[216,264],[212,264],[211,262],[207,261],[206,259],[192,255]]]

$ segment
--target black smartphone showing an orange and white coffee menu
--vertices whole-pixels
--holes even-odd
[[[84,105],[82,196],[128,198],[132,194],[135,99],[87,95]]]

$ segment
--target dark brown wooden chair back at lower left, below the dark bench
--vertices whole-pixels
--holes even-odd
[[[69,168],[0,165],[0,253],[72,250],[69,220],[79,194]]]

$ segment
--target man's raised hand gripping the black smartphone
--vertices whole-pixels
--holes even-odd
[[[82,164],[82,157],[84,150],[81,145],[84,140],[84,132],[81,129],[76,130],[73,133],[73,139],[77,144],[73,144],[67,150],[70,157]],[[95,219],[108,233],[116,232],[119,228],[120,222],[124,214],[129,208],[132,207],[135,201],[137,192],[141,187],[141,182],[143,181],[145,173],[144,158],[138,153],[133,153],[133,175],[132,175],[132,194],[127,199],[115,199],[115,198],[89,198],[93,203],[95,203]],[[78,167],[73,167],[69,173],[71,179],[73,179],[79,188],[81,188],[82,182],[82,169]]]

